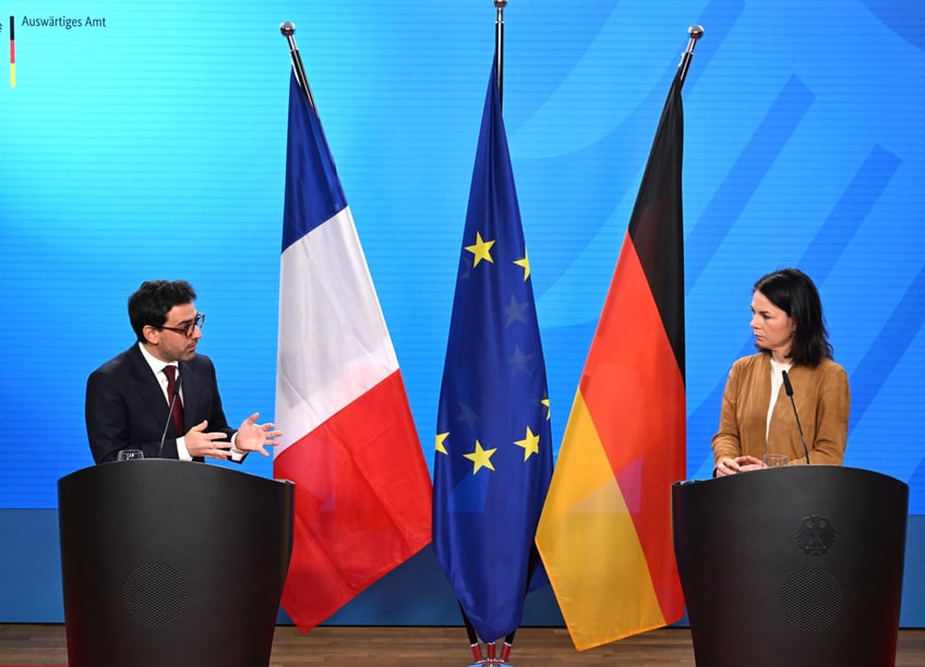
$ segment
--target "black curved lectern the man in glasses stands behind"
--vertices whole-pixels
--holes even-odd
[[[149,459],[58,481],[71,667],[267,665],[293,487]]]

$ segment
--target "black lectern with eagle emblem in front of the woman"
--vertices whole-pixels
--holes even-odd
[[[698,665],[896,663],[909,487],[833,465],[672,487]]]

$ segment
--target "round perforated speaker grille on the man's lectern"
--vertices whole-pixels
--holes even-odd
[[[132,618],[145,626],[173,621],[187,604],[187,581],[175,568],[146,562],[132,570],[122,585],[122,604]]]

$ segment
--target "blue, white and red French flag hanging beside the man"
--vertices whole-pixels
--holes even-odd
[[[316,110],[289,86],[274,477],[296,485],[283,608],[303,632],[431,541],[432,485]]]

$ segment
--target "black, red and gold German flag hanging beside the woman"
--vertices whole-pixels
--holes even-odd
[[[669,92],[566,425],[537,546],[579,651],[681,619],[684,69]]]

